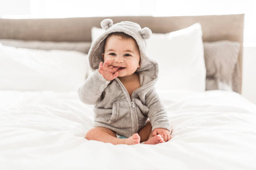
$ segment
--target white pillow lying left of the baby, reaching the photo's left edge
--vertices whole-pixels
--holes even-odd
[[[88,74],[87,54],[0,45],[0,90],[77,91]]]

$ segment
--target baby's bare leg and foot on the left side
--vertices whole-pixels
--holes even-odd
[[[114,145],[118,144],[127,144],[127,145],[133,145],[138,144],[140,141],[140,136],[138,133],[134,133],[130,138],[127,139],[119,139],[116,138],[115,133],[108,129],[103,127],[95,127],[89,130],[85,137],[87,140],[97,140],[104,143],[112,143]]]

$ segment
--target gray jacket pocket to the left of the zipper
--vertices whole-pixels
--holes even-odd
[[[131,127],[131,112],[126,99],[113,102],[112,115],[108,123],[115,128]]]

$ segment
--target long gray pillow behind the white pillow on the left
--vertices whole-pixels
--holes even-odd
[[[32,40],[13,40],[13,39],[0,39],[3,45],[31,48],[38,50],[74,50],[79,52],[88,53],[91,42],[53,42],[53,41],[32,41]]]

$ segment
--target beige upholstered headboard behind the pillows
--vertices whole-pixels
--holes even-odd
[[[54,19],[0,19],[0,39],[41,41],[91,41],[91,28],[111,18],[113,23],[129,20],[148,27],[155,33],[166,33],[186,28],[196,22],[202,25],[203,41],[230,40],[240,42],[238,89],[241,94],[243,59],[244,14],[205,16],[123,16]]]

